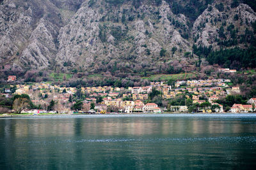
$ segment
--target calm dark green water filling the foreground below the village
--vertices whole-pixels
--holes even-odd
[[[0,119],[0,169],[253,169],[256,118]]]

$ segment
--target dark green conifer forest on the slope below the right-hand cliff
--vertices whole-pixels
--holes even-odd
[[[238,37],[237,30],[233,24],[227,26],[228,32],[224,32],[223,26],[221,26],[219,34],[223,41],[218,40],[218,44],[221,45],[220,50],[213,50],[212,46],[193,45],[193,52],[200,57],[205,57],[209,64],[218,64],[223,67],[230,67],[238,70],[241,68],[255,68],[256,22],[252,22],[252,28],[253,31],[246,29],[244,34]],[[226,34],[230,34],[230,39],[227,39],[225,36]],[[238,42],[250,46],[247,48],[239,48],[236,46]]]

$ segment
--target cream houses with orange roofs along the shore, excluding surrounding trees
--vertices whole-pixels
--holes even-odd
[[[9,80],[9,78],[8,78]],[[10,77],[14,80],[14,77]],[[125,113],[133,112],[152,112],[161,113],[164,108],[159,108],[156,103],[147,103],[148,94],[152,89],[159,90],[163,99],[172,99],[180,94],[186,94],[187,98],[192,99],[193,103],[209,102],[212,105],[217,104],[216,100],[226,97],[228,94],[239,94],[239,87],[230,87],[228,79],[212,79],[212,80],[188,80],[176,81],[173,87],[165,81],[150,82],[146,87],[81,87],[76,89],[73,87],[61,87],[59,85],[51,85],[49,83],[35,83],[33,85],[16,85],[15,94],[28,94],[31,101],[37,106],[40,105],[44,110],[47,108],[51,100],[56,101],[55,109],[59,112],[71,112],[70,108],[76,101],[70,99],[74,94],[84,94],[86,98],[83,101],[83,109],[90,110],[90,104],[95,103],[95,111],[106,111],[109,106],[113,106],[118,111]],[[10,89],[6,89],[6,94],[10,93]],[[190,94],[190,97],[188,96]],[[102,101],[97,103],[97,98],[101,97]],[[234,113],[253,111],[253,103],[255,98],[248,101],[248,105],[236,104],[230,111]],[[218,104],[223,112],[223,106]],[[166,108],[165,108],[166,109]],[[170,106],[170,111],[186,112],[187,106]]]

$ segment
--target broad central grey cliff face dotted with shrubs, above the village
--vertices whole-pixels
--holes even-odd
[[[140,68],[181,59],[184,52],[191,52],[189,41],[180,36],[170,19],[188,30],[186,17],[173,15],[165,1],[158,7],[145,3],[138,9],[131,3],[111,7],[101,3],[84,1],[72,21],[61,29],[59,61],[85,69],[107,69],[116,62],[124,69]],[[177,52],[172,55],[173,47]]]

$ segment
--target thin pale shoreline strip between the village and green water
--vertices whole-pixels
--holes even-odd
[[[52,114],[52,115],[0,115],[0,119],[12,118],[115,118],[115,117],[252,117],[256,113],[109,113],[109,114]]]

